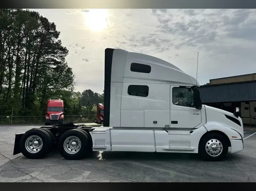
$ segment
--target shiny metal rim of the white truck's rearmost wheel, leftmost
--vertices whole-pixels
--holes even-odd
[[[39,152],[42,149],[42,139],[36,135],[30,136],[25,142],[25,148],[30,153]]]

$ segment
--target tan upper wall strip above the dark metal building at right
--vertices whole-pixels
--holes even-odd
[[[256,73],[211,79],[209,81],[211,85],[214,85],[214,84],[223,84],[223,83],[248,82],[252,80],[256,80]]]

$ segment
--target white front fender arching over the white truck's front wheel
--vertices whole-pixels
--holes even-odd
[[[207,122],[204,127],[207,129],[207,131],[221,131],[228,136],[230,140],[234,139],[243,139],[243,137],[237,132],[236,130],[232,129],[232,126],[218,123],[218,122]]]

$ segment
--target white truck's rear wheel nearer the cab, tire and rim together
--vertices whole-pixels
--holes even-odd
[[[67,160],[80,160],[88,154],[89,141],[83,131],[72,129],[59,139],[58,148],[61,156]]]

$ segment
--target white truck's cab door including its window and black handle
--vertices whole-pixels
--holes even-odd
[[[194,128],[201,123],[201,110],[193,106],[193,90],[187,87],[170,88],[170,127]]]

